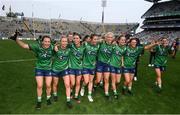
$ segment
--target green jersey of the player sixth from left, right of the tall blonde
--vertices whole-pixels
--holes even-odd
[[[115,45],[113,47],[112,56],[110,59],[110,65],[116,68],[122,66],[122,57],[126,51],[126,46]]]

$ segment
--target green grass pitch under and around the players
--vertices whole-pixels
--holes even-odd
[[[30,41],[26,41],[30,42]],[[152,85],[155,81],[153,68],[147,67],[149,53],[140,59],[138,81],[133,84],[134,96],[120,95],[118,100],[104,98],[102,88],[93,93],[94,102],[89,103],[87,92],[81,97],[81,104],[73,102],[73,108],[66,107],[65,88],[59,84],[59,100],[46,106],[45,91],[41,110],[35,109],[36,82],[34,78],[35,59],[31,51],[21,49],[14,41],[0,41],[0,113],[54,113],[54,114],[115,114],[115,113],[179,113],[180,114],[180,54],[169,58],[167,71],[163,75],[163,92],[157,94]],[[30,60],[29,60],[30,59]],[[20,60],[13,61],[11,60]],[[5,62],[6,61],[6,62]],[[121,85],[118,92],[121,92]],[[112,94],[112,92],[111,92]]]

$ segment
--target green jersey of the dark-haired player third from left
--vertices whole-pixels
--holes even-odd
[[[83,68],[83,52],[84,46],[81,45],[80,47],[76,47],[75,44],[70,45],[70,63],[69,68],[71,69],[82,69]]]

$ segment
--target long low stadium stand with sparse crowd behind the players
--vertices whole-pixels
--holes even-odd
[[[71,32],[78,32],[81,35],[96,33],[102,34],[103,27],[101,23],[97,22],[86,22],[86,21],[73,21],[65,19],[39,19],[39,18],[10,18],[0,17],[0,38],[8,37],[16,29],[18,29],[23,36],[22,37],[33,37],[28,31],[27,27],[23,24],[23,21],[29,27],[30,31],[38,35],[50,35],[52,38],[59,38],[63,34]],[[104,30],[112,31],[115,34],[136,32],[139,23],[105,23]]]

